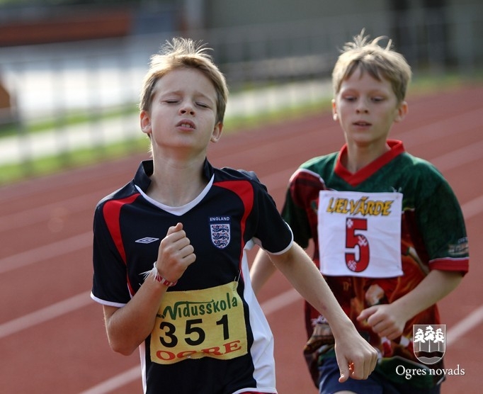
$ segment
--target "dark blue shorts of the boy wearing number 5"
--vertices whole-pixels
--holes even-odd
[[[335,357],[324,359],[319,367],[321,380],[319,394],[334,394],[338,391],[349,390],[358,394],[439,394],[441,385],[433,388],[416,388],[410,384],[397,384],[385,379],[380,373],[373,372],[365,381],[348,378],[339,383],[341,372]]]

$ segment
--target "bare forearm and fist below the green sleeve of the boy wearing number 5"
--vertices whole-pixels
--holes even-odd
[[[406,322],[431,305],[437,303],[451,293],[460,281],[460,271],[430,271],[418,286],[393,303],[373,305],[363,310],[357,317],[358,320],[367,320],[368,325],[380,337],[397,339]]]

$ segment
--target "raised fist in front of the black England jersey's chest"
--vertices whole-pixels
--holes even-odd
[[[156,264],[159,275],[166,281],[178,281],[188,266],[195,262],[194,250],[182,223],[169,227],[166,237],[159,244]]]

